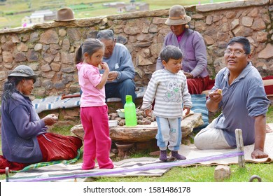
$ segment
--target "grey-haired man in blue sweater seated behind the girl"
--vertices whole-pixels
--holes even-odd
[[[134,102],[136,98],[134,92],[136,88],[134,85],[135,71],[129,50],[125,45],[116,43],[113,31],[110,29],[99,31],[97,39],[105,45],[103,62],[106,62],[110,69],[105,85],[106,99],[119,97],[124,105],[126,95],[132,95]]]

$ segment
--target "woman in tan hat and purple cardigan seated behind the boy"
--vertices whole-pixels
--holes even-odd
[[[188,90],[190,94],[201,94],[209,85],[207,50],[202,35],[188,29],[187,23],[190,20],[183,6],[175,5],[170,8],[169,18],[165,24],[169,25],[171,32],[165,37],[163,48],[166,45],[180,48],[183,53],[182,69],[187,77]],[[158,57],[156,70],[163,68],[162,61]]]

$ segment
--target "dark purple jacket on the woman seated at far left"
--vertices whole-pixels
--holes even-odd
[[[34,163],[42,160],[37,136],[46,132],[29,97],[13,92],[13,99],[1,103],[3,156],[10,162]]]

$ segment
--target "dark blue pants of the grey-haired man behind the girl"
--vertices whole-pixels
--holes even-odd
[[[132,100],[136,99],[136,86],[134,85],[134,80],[127,79],[120,83],[106,83],[105,94],[106,99],[111,97],[118,97],[123,102],[123,106],[126,103],[126,95],[132,95]]]

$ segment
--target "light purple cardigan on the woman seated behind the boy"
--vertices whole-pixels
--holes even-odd
[[[194,78],[204,78],[209,75],[207,71],[206,45],[199,32],[193,31],[192,29],[186,29],[180,42],[177,40],[175,34],[169,32],[165,37],[163,48],[166,45],[175,45],[181,49],[183,53],[183,71],[192,73]],[[156,70],[162,69],[163,67],[161,59],[158,57]]]

